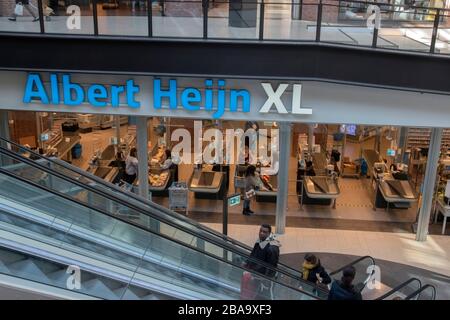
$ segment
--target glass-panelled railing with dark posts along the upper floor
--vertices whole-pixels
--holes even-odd
[[[88,31],[87,35],[95,37],[114,36],[122,32],[123,34],[119,34],[120,36],[127,37],[133,34],[126,30],[130,27],[128,20],[114,20],[124,14],[129,18],[139,19],[132,25],[134,28],[139,28],[136,36],[143,38],[321,42],[450,54],[450,21],[447,22],[450,11],[446,8],[371,1],[319,0],[318,3],[311,2],[312,0],[292,0],[290,3],[278,1],[164,0],[158,2],[161,13],[155,14],[152,9],[153,1],[145,0],[136,1],[146,4],[145,11],[136,16],[129,8],[124,7],[125,1],[120,1],[119,5],[122,8],[117,14],[111,15],[109,11],[99,9],[105,1],[91,0],[90,5],[83,8],[83,12],[87,12],[83,18],[90,19],[92,15],[92,21],[89,22],[92,32]],[[44,1],[36,0],[36,2],[39,9],[39,32],[41,34],[86,35],[85,30],[83,32],[55,30],[55,27],[51,27],[51,21],[44,22],[46,18]],[[174,4],[176,4],[176,8],[174,8]],[[288,10],[289,8],[290,10]],[[280,16],[280,10],[284,12],[284,15]],[[242,12],[245,15],[241,15]],[[111,21],[105,22],[105,19],[108,18]],[[233,19],[242,19],[240,22],[247,26],[233,26]],[[286,24],[288,19],[290,19],[290,24]],[[375,22],[372,23],[373,21]],[[164,24],[162,24],[163,22]],[[108,27],[102,27],[105,23],[109,23]],[[163,27],[160,24],[164,27],[175,26],[177,31],[173,33],[181,33],[181,36],[165,34],[164,30],[161,31]],[[101,28],[106,31],[100,30]],[[190,33],[190,28],[196,29],[197,32]],[[157,32],[156,29],[161,30]],[[225,32],[228,32],[225,36],[223,35],[224,29]],[[16,30],[8,29],[0,30],[0,33],[5,31],[16,32]],[[25,31],[17,32],[24,33]],[[278,34],[274,35],[275,33]],[[294,35],[296,33],[297,35]],[[246,34],[250,36],[246,36]],[[405,45],[405,42],[408,42],[409,45]]]

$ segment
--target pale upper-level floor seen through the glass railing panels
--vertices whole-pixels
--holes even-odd
[[[316,22],[292,20],[290,10],[274,10],[275,13],[266,15],[264,23],[264,38],[278,40],[315,40]],[[258,39],[259,28],[236,28],[228,25],[228,12],[218,14],[219,10],[211,13],[208,19],[208,36],[210,38]],[[278,12],[278,13],[277,13]],[[81,17],[81,29],[69,30],[67,17],[53,17],[45,22],[45,29],[49,33],[63,34],[93,34],[92,16]],[[99,33],[104,35],[146,36],[148,34],[147,18],[145,16],[127,15],[99,16]],[[259,22],[257,21],[257,26]],[[449,52],[449,39],[446,35],[450,29],[440,28],[436,48],[442,53]],[[19,18],[17,22],[8,21],[7,17],[0,17],[0,31],[39,32],[39,23],[31,18]],[[384,48],[399,48],[405,50],[427,52],[430,49],[431,28],[390,28],[380,29],[378,46]],[[172,17],[154,16],[153,35],[158,37],[194,37],[203,36],[202,17]],[[360,26],[336,25],[322,23],[321,41],[343,44],[370,46],[373,33],[364,24]]]

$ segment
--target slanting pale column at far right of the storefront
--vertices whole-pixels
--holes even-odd
[[[441,151],[442,128],[431,130],[430,147],[428,149],[427,166],[423,181],[422,205],[420,207],[416,240],[425,241],[428,235],[431,209],[433,207],[433,195],[437,176],[439,155]]]

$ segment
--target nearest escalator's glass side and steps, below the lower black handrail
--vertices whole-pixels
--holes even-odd
[[[0,173],[3,273],[63,289],[64,267],[72,265],[84,275],[81,292],[101,299],[239,299],[245,269],[227,258],[235,252],[179,230],[172,230],[172,237],[153,232],[3,169]],[[277,279],[253,277],[272,288],[263,293],[266,299],[317,299]]]

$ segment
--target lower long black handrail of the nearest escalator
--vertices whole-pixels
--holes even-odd
[[[101,213],[101,214],[103,214],[103,215],[106,215],[106,216],[108,216],[108,217],[110,217],[110,218],[112,218],[112,219],[114,219],[114,220],[121,221],[121,222],[123,222],[123,223],[132,225],[133,227],[136,227],[136,228],[138,228],[138,229],[141,229],[141,230],[143,230],[143,231],[145,231],[145,232],[151,233],[151,234],[153,234],[153,235],[157,235],[157,236],[159,236],[159,237],[161,237],[161,238],[164,238],[164,239],[166,239],[166,240],[168,240],[168,241],[174,242],[174,243],[176,243],[176,244],[178,244],[178,245],[180,245],[180,246],[182,246],[182,247],[186,247],[186,248],[192,249],[192,250],[194,250],[194,251],[196,251],[196,252],[198,252],[198,253],[200,253],[200,254],[204,254],[204,255],[206,255],[206,256],[212,258],[212,259],[219,260],[219,261],[221,261],[221,262],[223,262],[223,263],[225,263],[225,264],[228,264],[228,265],[232,265],[232,266],[234,266],[234,267],[236,267],[236,268],[238,268],[238,269],[240,269],[240,270],[242,270],[242,271],[250,271],[250,272],[252,272],[252,273],[256,273],[256,271],[253,271],[253,270],[250,270],[250,269],[246,269],[245,267],[243,267],[243,266],[241,266],[241,265],[239,265],[239,264],[237,264],[237,263],[235,263],[235,262],[233,262],[233,261],[228,261],[228,260],[225,260],[225,259],[222,258],[222,257],[215,256],[215,255],[213,255],[213,254],[211,254],[211,253],[209,253],[209,252],[206,252],[206,251],[204,251],[204,250],[201,250],[201,249],[199,249],[199,248],[197,248],[197,247],[194,247],[194,246],[188,245],[188,244],[186,244],[186,243],[184,243],[184,242],[181,242],[181,241],[178,240],[178,239],[170,238],[170,237],[168,237],[168,236],[166,236],[166,235],[164,235],[164,234],[156,233],[156,232],[154,232],[153,230],[151,230],[151,229],[149,229],[149,228],[147,228],[147,227],[144,227],[144,226],[142,226],[142,225],[140,225],[140,224],[137,224],[137,223],[134,222],[134,221],[130,221],[130,220],[128,220],[128,219],[124,219],[124,218],[122,218],[122,217],[119,217],[119,216],[113,215],[113,214],[111,214],[111,213],[109,213],[109,212],[106,212],[106,211],[104,211],[104,210],[102,210],[102,209],[98,209],[98,208],[95,208],[95,207],[93,207],[93,206],[90,206],[90,205],[88,205],[88,204],[86,204],[86,203],[84,203],[84,202],[81,202],[81,201],[78,200],[78,199],[74,199],[74,198],[72,198],[72,197],[70,197],[70,196],[67,196],[67,195],[65,195],[65,194],[63,194],[63,193],[60,193],[60,192],[58,192],[58,191],[51,190],[51,189],[49,189],[49,188],[47,188],[47,187],[45,187],[45,186],[42,186],[42,185],[39,185],[39,184],[37,184],[37,183],[35,183],[35,182],[29,181],[29,180],[27,180],[27,179],[25,179],[25,178],[23,178],[23,177],[21,177],[21,176],[17,176],[16,174],[14,174],[14,173],[12,173],[12,172],[10,172],[10,171],[7,171],[7,170],[5,170],[5,169],[3,169],[3,168],[0,168],[0,173],[3,174],[3,175],[9,176],[9,177],[11,177],[11,178],[13,178],[13,179],[19,180],[19,181],[21,181],[21,182],[23,182],[23,183],[25,183],[25,184],[28,184],[28,185],[31,185],[31,186],[36,187],[36,188],[38,188],[38,189],[44,190],[45,192],[48,192],[48,193],[50,193],[50,194],[53,194],[53,195],[56,195],[56,196],[58,196],[58,197],[64,198],[64,199],[67,200],[67,201],[76,203],[77,205],[80,205],[80,206],[83,206],[83,207],[85,207],[85,208],[88,208],[89,210],[99,212],[99,213]],[[232,252],[233,250],[229,250],[229,251]],[[262,266],[265,267],[265,265],[264,265],[263,263],[261,263],[262,261],[260,261],[260,260],[257,260],[257,259],[255,259],[255,258],[253,258],[253,257],[246,257],[246,258],[247,258],[249,261],[256,262],[256,263],[258,263],[259,265],[262,265]],[[248,260],[247,260],[247,261],[248,261]],[[269,266],[269,267],[270,267],[270,266]],[[274,270],[274,269],[272,268],[271,270]],[[274,271],[278,271],[278,270],[274,270]],[[257,275],[258,275],[258,277],[265,278],[266,280],[269,280],[269,281],[272,281],[272,282],[274,282],[274,283],[277,283],[278,285],[280,285],[280,286],[282,286],[282,287],[290,288],[290,289],[292,289],[292,290],[294,290],[294,291],[300,292],[300,293],[305,294],[305,295],[307,295],[307,296],[309,296],[309,297],[313,297],[314,299],[320,299],[319,296],[315,296],[315,295],[313,295],[312,293],[306,292],[306,291],[304,291],[304,290],[302,290],[302,289],[299,289],[299,288],[295,288],[295,287],[290,286],[290,285],[288,285],[288,284],[281,283],[281,282],[277,281],[276,278],[271,278],[271,277],[269,277],[269,276],[267,276],[267,275],[265,275],[265,274],[260,274],[260,273],[257,273]]]

